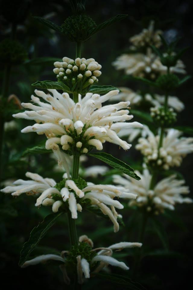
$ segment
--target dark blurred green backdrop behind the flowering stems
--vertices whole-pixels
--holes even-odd
[[[71,14],[68,1],[1,1],[0,26],[1,40],[10,37],[11,31],[27,52],[27,60],[21,65],[15,65],[11,69],[9,94],[10,98],[6,108],[1,114],[6,115],[6,121],[12,121],[11,115],[18,112],[20,102],[28,102],[34,88],[31,86],[36,80],[55,80],[52,72],[54,60],[63,56],[75,58],[75,43],[59,35],[33,19],[33,16],[41,16],[60,25]],[[89,0],[86,5],[86,14],[99,24],[116,14],[128,14],[124,20],[108,27],[106,30],[95,34],[83,44],[82,57],[94,58],[102,65],[100,85],[127,86],[137,90],[139,84],[124,78],[123,71],[116,71],[112,62],[120,54],[127,52],[129,38],[141,32],[147,27],[151,19],[155,20],[156,28],[164,31],[166,40],[171,41],[181,37],[179,48],[190,47],[183,55],[188,75],[193,74],[192,63],[192,24],[191,1],[134,1],[134,0]],[[46,59],[49,57],[49,59]],[[50,57],[53,60],[50,60]],[[34,60],[35,59],[35,60]],[[33,61],[31,61],[33,60]],[[1,80],[3,79],[4,66],[0,67]],[[172,95],[179,97],[185,104],[185,109],[178,115],[177,125],[192,126],[192,80],[180,87]],[[145,111],[147,108],[144,108]],[[139,108],[138,108],[139,110]],[[147,109],[148,111],[148,109]],[[131,104],[132,113],[132,104]],[[134,118],[133,121],[141,121]],[[25,172],[36,172],[41,176],[50,177],[57,182],[62,179],[62,172],[56,166],[52,154],[31,154],[26,149],[33,147],[44,140],[37,134],[21,134],[20,130],[30,125],[30,121],[16,120],[5,128],[3,140],[3,172],[2,186],[7,185],[12,179],[25,179]],[[188,136],[188,135],[187,135]],[[142,156],[134,149],[135,142],[128,151],[119,150],[114,144],[106,143],[104,151],[125,161],[134,169],[141,169]],[[177,170],[186,180],[186,185],[193,189],[192,182],[193,156],[188,155]],[[82,166],[104,165],[96,159],[84,160]],[[110,171],[101,177],[102,183],[110,183]],[[92,178],[88,181],[93,181]],[[63,283],[62,273],[57,266],[38,265],[27,269],[18,266],[19,255],[25,241],[28,240],[30,231],[43,218],[51,213],[51,208],[34,206],[35,199],[32,196],[19,196],[17,199],[9,195],[0,196],[1,200],[1,247],[0,247],[0,271],[2,282],[6,286],[32,289],[34,287],[46,287],[46,289],[67,289]],[[192,266],[192,205],[177,205],[175,212],[166,212],[160,216],[163,224],[165,242],[159,238],[159,234],[153,232],[150,225],[147,227],[144,247],[145,253],[141,267],[135,277],[135,281],[141,283],[147,289],[167,290],[183,289],[188,281],[191,281]],[[89,212],[79,214],[77,226],[78,234],[87,234],[93,239],[95,247],[106,247],[119,241],[137,241],[138,221],[140,214],[128,208],[122,210],[124,224],[120,226],[118,234],[113,233],[111,223]],[[68,229],[65,215],[59,219],[52,229],[41,240],[34,250],[34,256],[50,251],[69,249]],[[167,250],[167,251],[166,251]],[[125,261],[132,269],[134,251],[115,253],[115,258]],[[130,273],[122,273],[119,269],[111,269],[113,273],[130,277]],[[90,279],[83,289],[115,289],[112,283],[98,277]],[[127,287],[128,288],[128,287]],[[187,288],[187,287],[186,287]],[[116,286],[119,289],[119,286]],[[120,289],[125,289],[120,285]],[[188,289],[188,288],[187,288]]]

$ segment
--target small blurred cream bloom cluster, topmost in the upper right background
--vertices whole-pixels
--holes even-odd
[[[144,28],[141,33],[134,35],[129,40],[135,47],[144,47],[154,45],[160,47],[162,42],[159,34],[161,30],[154,31],[154,21],[150,21],[148,28]]]

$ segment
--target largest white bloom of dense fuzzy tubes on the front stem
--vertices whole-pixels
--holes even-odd
[[[46,102],[41,102],[40,98],[32,96],[31,103],[23,103],[24,108],[32,111],[14,114],[15,118],[34,120],[33,126],[25,127],[22,132],[36,132],[45,134],[47,137],[46,149],[52,149],[59,160],[59,164],[67,169],[67,158],[65,153],[72,155],[72,151],[78,154],[87,153],[96,147],[102,150],[102,143],[108,141],[128,150],[131,144],[122,141],[118,136],[117,128],[123,126],[123,122],[131,120],[132,115],[128,115],[129,102],[119,102],[113,105],[102,107],[102,103],[108,101],[118,90],[108,92],[106,95],[87,93],[85,97],[79,95],[79,102],[75,103],[68,93],[60,94],[54,89],[49,89],[50,94],[35,90],[37,96]],[[141,126],[138,122],[125,123],[128,127]],[[76,138],[76,139],[75,139]],[[76,141],[75,141],[76,140]],[[82,144],[82,146],[80,146]],[[61,148],[62,147],[62,148]]]

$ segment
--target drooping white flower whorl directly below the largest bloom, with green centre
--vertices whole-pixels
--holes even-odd
[[[78,218],[77,211],[82,211],[87,205],[99,208],[103,214],[108,215],[114,225],[114,231],[119,230],[117,222],[118,213],[115,208],[122,209],[123,205],[118,198],[136,198],[137,195],[122,191],[111,185],[94,185],[87,183],[80,177],[78,179],[63,179],[57,183],[53,179],[27,172],[26,177],[32,180],[18,179],[12,186],[6,186],[1,192],[11,193],[12,196],[19,196],[22,193],[27,195],[41,195],[37,198],[35,206],[52,206],[52,211],[57,212],[60,207],[71,212],[73,219]],[[116,198],[116,199],[114,199]]]

